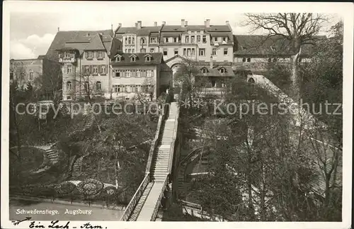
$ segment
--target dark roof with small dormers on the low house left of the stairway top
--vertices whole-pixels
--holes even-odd
[[[117,53],[115,54],[117,55]],[[160,65],[164,60],[162,59],[162,53],[161,52],[152,52],[149,53],[149,55],[152,55],[151,61],[147,62],[145,61],[145,55],[147,53],[119,53],[121,56],[121,59],[119,62],[115,62],[115,58],[112,57],[112,66],[127,66],[127,65]],[[137,58],[134,62],[130,61],[130,56],[135,55]]]

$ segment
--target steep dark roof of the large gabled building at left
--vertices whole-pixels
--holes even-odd
[[[66,47],[77,48],[80,53],[82,53],[84,47],[81,47],[82,45],[79,45],[78,43],[84,42],[85,45],[87,45],[90,39],[93,38],[91,35],[96,35],[97,33],[103,34],[103,42],[105,42],[105,40],[109,40],[109,37],[111,39],[113,36],[112,30],[59,31],[57,35],[55,35],[55,38],[52,41],[52,44],[50,45],[50,48],[48,48],[46,56],[50,60],[58,60],[57,50]],[[69,45],[68,42],[74,42],[76,44]]]

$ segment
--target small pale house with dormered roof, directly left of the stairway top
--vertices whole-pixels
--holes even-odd
[[[122,53],[112,55],[113,99],[154,100],[171,84],[171,69],[161,53]]]

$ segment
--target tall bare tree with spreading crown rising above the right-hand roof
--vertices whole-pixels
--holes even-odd
[[[291,61],[292,96],[300,99],[302,77],[299,71],[299,55],[303,45],[314,45],[326,16],[317,13],[246,13],[246,25],[253,30],[265,30],[266,38],[278,36],[287,40],[287,51]]]

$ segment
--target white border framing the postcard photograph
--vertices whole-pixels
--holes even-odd
[[[9,34],[10,34],[10,12],[60,12],[76,7],[82,10],[94,7],[96,11],[107,13],[117,13],[115,7],[125,4],[136,4],[137,6],[148,4],[150,9],[154,9],[153,2],[84,2],[84,1],[4,1],[3,8],[3,55],[2,55],[2,90],[1,90],[1,228],[21,228],[21,225],[14,226],[8,220],[8,79],[9,79]],[[185,7],[200,6],[198,2],[164,2],[159,4],[183,4]],[[295,11],[295,12],[318,12],[318,13],[337,13],[344,21],[344,50],[343,50],[343,221],[342,222],[270,222],[270,223],[251,223],[251,222],[228,222],[228,223],[187,223],[187,222],[115,222],[115,221],[91,221],[91,224],[101,225],[103,228],[350,228],[351,223],[351,174],[352,174],[352,129],[353,126],[353,4],[350,3],[318,3],[318,2],[299,2],[299,3],[275,3],[275,2],[204,2],[203,5],[210,5],[210,12],[205,12],[205,16],[212,17],[215,9],[234,11],[234,13],[244,12],[275,12],[275,11]],[[233,7],[230,9],[229,5]],[[54,7],[53,7],[54,6]],[[68,7],[69,6],[69,7]],[[142,6],[140,6],[142,7]],[[198,8],[195,8],[198,9]],[[76,9],[77,10],[77,9]],[[171,7],[171,11],[173,8]],[[208,15],[209,14],[209,15]],[[73,18],[74,20],[74,18]],[[232,18],[225,20],[232,21]],[[169,21],[169,20],[166,20]],[[118,22],[115,22],[118,23]],[[116,25],[114,25],[116,26]],[[114,27],[113,26],[113,27]],[[236,33],[236,31],[235,31]],[[79,228],[84,221],[71,221],[70,225]]]

